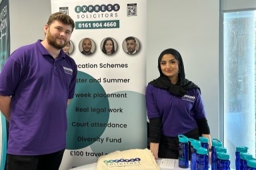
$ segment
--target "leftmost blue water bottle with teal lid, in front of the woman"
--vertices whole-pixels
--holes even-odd
[[[178,135],[179,138],[179,167],[189,167],[189,138]]]

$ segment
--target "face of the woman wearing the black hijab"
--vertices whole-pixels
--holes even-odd
[[[160,61],[161,71],[171,82],[177,82],[179,74],[179,61],[173,54],[164,54]]]

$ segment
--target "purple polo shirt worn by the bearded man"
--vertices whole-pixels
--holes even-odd
[[[0,74],[0,95],[11,96],[7,153],[43,155],[66,146],[67,100],[73,98],[77,66],[61,50],[54,59],[41,41],[9,56]]]

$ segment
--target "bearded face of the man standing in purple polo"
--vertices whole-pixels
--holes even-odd
[[[72,33],[71,25],[65,25],[60,21],[53,21],[51,25],[45,25],[45,34],[49,45],[60,50],[69,43]]]

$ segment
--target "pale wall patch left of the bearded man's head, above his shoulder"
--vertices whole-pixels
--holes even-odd
[[[44,39],[43,26],[51,15],[51,0],[9,0],[11,52]]]

